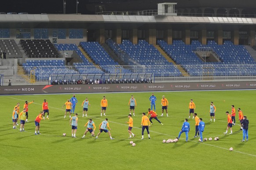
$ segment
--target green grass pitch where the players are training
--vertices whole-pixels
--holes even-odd
[[[58,95],[22,95],[0,96],[0,160],[1,169],[253,169],[256,159],[256,91],[200,91],[200,92],[155,92],[157,97],[157,114],[161,115],[161,96],[168,99],[169,117],[158,117],[164,124],[160,125],[153,119],[150,127],[150,137],[141,138],[141,113],[150,108],[149,97],[151,92],[144,93],[104,93],[104,94],[76,94],[78,104],[77,138],[71,138],[69,117],[64,119],[63,104],[72,94]],[[132,147],[128,139],[128,101],[131,97],[137,101],[135,116],[133,118],[132,139],[136,143]],[[99,124],[105,117],[100,117],[100,101],[103,96],[108,99],[109,106],[106,118],[109,119],[110,132],[102,133],[99,139],[91,137],[81,138],[84,124],[92,118],[96,125],[95,133],[99,132]],[[82,101],[88,97],[88,117],[82,117]],[[42,109],[43,100],[47,99],[50,108],[50,120],[41,120],[40,133],[34,135],[34,120]],[[185,142],[185,134],[181,135],[179,142],[162,143],[163,139],[178,136],[184,118],[188,117],[188,104],[194,99],[195,112],[205,122],[203,137],[219,137],[219,141],[198,142],[194,138],[194,119],[190,119],[189,142]],[[25,101],[35,100],[29,105],[29,123],[25,124],[25,132],[12,129],[11,114],[16,103],[21,103],[21,111]],[[216,106],[216,122],[209,122],[210,102]],[[233,127],[233,135],[224,135],[227,127],[226,111],[231,112],[231,106],[237,110],[241,108],[249,119],[249,141],[241,142],[242,131],[239,131],[238,112],[237,125]],[[20,124],[20,122],[18,122]],[[230,131],[229,131],[230,132]],[[66,137],[62,134],[66,133]],[[233,147],[234,151],[229,151]]]

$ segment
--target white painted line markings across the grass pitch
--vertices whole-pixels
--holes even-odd
[[[13,97],[10,97],[12,99],[16,99],[16,98],[13,98]],[[18,100],[22,100],[22,99],[18,99]],[[23,101],[23,100],[22,100]],[[35,104],[38,104],[40,105],[39,103],[35,103]],[[59,108],[55,108],[55,107],[51,107],[53,109],[57,109],[57,110],[62,110],[62,109],[59,109]],[[81,114],[81,113],[78,113],[78,114]],[[95,119],[99,119],[99,120],[104,120],[102,118],[98,118],[98,117],[93,117]],[[222,121],[222,120],[219,120],[221,122],[226,122],[226,121]],[[120,125],[124,125],[124,126],[128,126],[127,124],[121,124],[121,123],[118,123],[118,122],[114,122],[114,121],[109,121],[109,122],[112,122],[112,123],[115,123],[115,124],[120,124]],[[137,128],[137,129],[141,129],[139,127],[134,127],[134,128]],[[154,133],[157,133],[157,134],[161,134],[161,135],[166,135],[166,136],[172,136],[172,135],[168,135],[168,134],[164,134],[164,133],[159,133],[159,132],[156,132],[156,131],[151,131],[151,132],[154,132]],[[28,133],[32,133],[32,132],[28,132]],[[238,132],[235,132],[235,133],[238,133]],[[44,135],[44,134],[41,134],[41,135]],[[51,135],[45,135],[45,136],[51,136]],[[52,135],[53,136],[53,135]],[[223,136],[223,135],[219,135],[219,136]],[[62,136],[57,136],[57,137],[62,137]],[[172,137],[175,137],[175,136],[172,136]],[[181,139],[184,139],[185,138],[181,138]],[[192,140],[189,140],[190,142],[195,142],[195,141],[192,141]],[[195,142],[195,143],[198,143],[198,142]],[[203,145],[208,145],[208,146],[212,146],[212,147],[216,147],[216,148],[219,148],[219,149],[225,149],[225,150],[229,150],[227,148],[223,148],[223,147],[219,147],[219,146],[216,146],[216,145],[211,145],[211,144],[207,144],[207,143],[201,143]],[[239,151],[235,151],[233,150],[233,152],[238,152],[238,153],[241,153],[241,154],[244,154],[244,155],[249,155],[249,156],[254,156],[256,157],[256,155],[252,155],[252,154],[249,154],[249,153],[245,153],[245,152],[239,152]]]

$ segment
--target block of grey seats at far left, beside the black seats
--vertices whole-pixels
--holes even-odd
[[[14,39],[0,40],[0,51],[3,52],[4,50],[7,58],[22,58],[22,53],[20,52]]]

